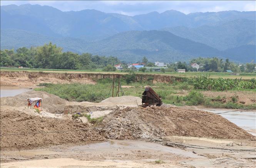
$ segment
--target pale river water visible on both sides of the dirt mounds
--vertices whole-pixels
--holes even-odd
[[[22,87],[0,87],[1,95],[0,97],[7,97],[7,96],[16,96],[23,92],[31,91],[29,88],[22,88]],[[235,109],[201,109],[208,112],[219,113],[219,112],[228,112],[233,111]],[[243,128],[247,132],[256,135],[256,111],[236,111],[236,112],[229,112],[224,114],[219,114],[222,117],[228,119],[229,121],[233,122],[234,124],[238,125],[239,127]]]

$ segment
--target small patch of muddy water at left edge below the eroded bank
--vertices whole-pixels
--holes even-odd
[[[16,86],[1,86],[0,97],[16,96],[23,92],[31,91],[29,88],[16,87]]]

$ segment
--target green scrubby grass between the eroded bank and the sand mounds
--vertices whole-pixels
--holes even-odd
[[[255,89],[234,89],[224,92],[218,91],[203,91],[195,89],[192,84],[188,82],[174,82],[174,83],[156,83],[150,81],[132,82],[127,84],[124,80],[121,81],[125,96],[141,97],[145,86],[151,86],[154,91],[162,97],[165,104],[174,105],[204,105],[214,108],[230,108],[243,109],[255,108]],[[110,88],[112,79],[99,79],[96,84],[40,84],[40,88],[36,91],[45,91],[54,94],[69,101],[89,101],[100,102],[107,97],[111,97]],[[115,88],[114,93],[117,92]],[[220,96],[221,95],[221,96]],[[240,103],[245,101],[244,97],[249,97],[246,104]]]

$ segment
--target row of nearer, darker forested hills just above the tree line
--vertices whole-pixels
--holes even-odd
[[[29,39],[29,40],[27,40]],[[251,62],[255,58],[255,45],[244,45],[225,51],[181,38],[168,31],[125,31],[104,40],[86,42],[77,38],[49,37],[39,33],[17,29],[1,30],[1,49],[18,49],[40,46],[49,42],[61,46],[64,51],[117,56],[121,61],[139,61],[147,56],[150,61],[188,61],[196,57],[229,58]],[[241,59],[241,55],[243,58]]]

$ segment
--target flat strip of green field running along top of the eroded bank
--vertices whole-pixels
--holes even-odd
[[[1,68],[1,71],[30,71],[30,72],[54,72],[54,73],[102,73],[102,74],[127,74],[127,72],[122,71],[112,71],[112,72],[104,72],[101,69],[96,69],[94,71],[90,70],[69,70],[69,69],[30,69],[30,68]],[[179,76],[179,77],[198,77],[210,75],[210,78],[219,78],[222,77],[224,79],[253,79],[256,78],[256,73],[240,73],[239,75],[230,75],[226,72],[185,72],[185,73],[177,73],[177,72],[136,72],[136,74],[159,74],[166,76]]]

